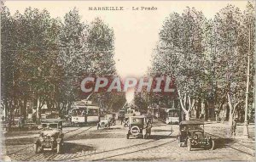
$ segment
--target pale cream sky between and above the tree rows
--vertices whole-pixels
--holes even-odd
[[[11,14],[16,10],[23,13],[25,8],[46,8],[52,17],[63,19],[72,8],[78,8],[82,21],[91,22],[100,17],[113,27],[115,35],[114,60],[121,77],[141,77],[150,66],[151,56],[158,41],[163,21],[169,14],[181,14],[187,6],[195,8],[207,17],[214,15],[228,4],[241,10],[247,1],[7,1]],[[123,11],[91,11],[89,7],[124,7]],[[132,10],[141,7],[154,7],[157,10]],[[131,95],[132,96],[132,95]],[[132,98],[132,97],[131,97]]]

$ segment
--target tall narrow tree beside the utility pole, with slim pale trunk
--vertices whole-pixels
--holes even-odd
[[[213,32],[214,53],[217,68],[218,87],[223,89],[229,104],[230,126],[237,106],[244,100],[247,71],[247,32],[244,28],[244,16],[239,8],[227,6],[221,9],[214,18]],[[232,59],[230,59],[232,58]]]

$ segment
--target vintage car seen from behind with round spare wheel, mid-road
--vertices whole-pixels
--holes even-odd
[[[129,117],[129,131],[126,134],[127,139],[130,136],[144,138],[150,137],[151,135],[152,122],[144,115],[130,116]]]

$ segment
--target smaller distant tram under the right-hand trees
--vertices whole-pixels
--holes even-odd
[[[179,110],[178,109],[159,109],[159,119],[166,124],[178,124],[179,123]]]

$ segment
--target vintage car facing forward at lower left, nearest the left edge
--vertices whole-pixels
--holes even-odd
[[[38,149],[44,150],[56,150],[57,154],[61,154],[61,148],[63,147],[64,134],[62,133],[62,120],[58,119],[45,119],[41,120],[40,135],[35,139],[34,151],[37,154]]]

